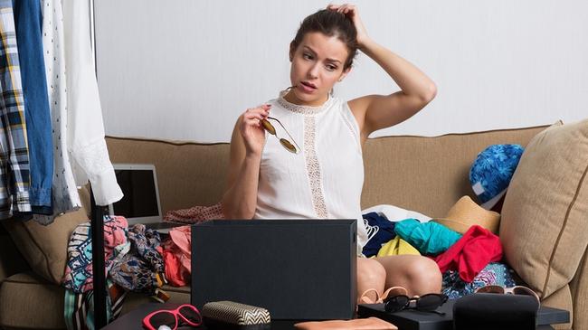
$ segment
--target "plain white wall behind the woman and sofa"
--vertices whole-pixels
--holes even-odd
[[[246,108],[289,86],[288,45],[312,0],[97,0],[108,135],[229,141]],[[588,118],[588,2],[356,1],[368,33],[437,83],[432,103],[380,135],[436,136]],[[397,86],[364,54],[336,86]]]

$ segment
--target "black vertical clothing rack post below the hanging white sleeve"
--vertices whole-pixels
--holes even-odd
[[[90,186],[90,230],[92,232],[92,276],[94,295],[94,329],[106,326],[106,274],[104,272],[104,210],[96,205]]]

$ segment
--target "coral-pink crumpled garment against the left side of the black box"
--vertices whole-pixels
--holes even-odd
[[[176,227],[163,242],[166,278],[172,286],[184,287],[190,283],[191,237],[190,226]]]

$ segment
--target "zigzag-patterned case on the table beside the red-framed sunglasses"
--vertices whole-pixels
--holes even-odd
[[[267,309],[233,301],[204,304],[202,318],[209,329],[265,330],[271,327]]]

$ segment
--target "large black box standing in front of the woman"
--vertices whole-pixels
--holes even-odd
[[[349,319],[356,219],[221,220],[192,227],[192,304],[230,300],[276,319]]]

